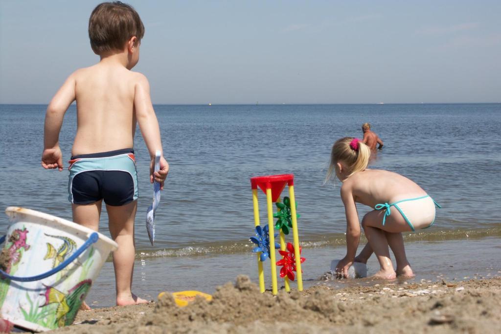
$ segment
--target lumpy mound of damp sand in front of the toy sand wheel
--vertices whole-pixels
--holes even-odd
[[[172,295],[164,295],[146,325],[168,325],[178,321],[201,321],[245,325],[254,321],[265,323],[308,321],[327,324],[341,312],[332,295],[317,291],[307,300],[298,291],[280,291],[277,297],[260,293],[247,276],[238,276],[235,284],[226,283],[212,296],[212,301],[197,298],[186,307],[177,307]]]

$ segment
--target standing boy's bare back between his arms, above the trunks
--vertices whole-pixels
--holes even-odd
[[[101,62],[76,71],[78,129],[73,155],[133,147],[138,73]]]

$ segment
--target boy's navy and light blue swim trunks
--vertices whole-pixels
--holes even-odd
[[[76,155],[69,162],[70,202],[90,204],[104,199],[108,205],[120,206],[137,199],[133,149]]]

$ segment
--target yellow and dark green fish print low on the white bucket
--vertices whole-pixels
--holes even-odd
[[[46,291],[41,295],[45,296],[45,303],[40,307],[56,304],[57,309],[54,325],[56,327],[71,325],[91,285],[92,280],[85,279],[71,288],[67,294],[52,286],[44,285]]]

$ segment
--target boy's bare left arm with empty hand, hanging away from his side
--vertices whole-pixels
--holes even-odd
[[[66,79],[59,91],[54,95],[47,107],[44,125],[44,152],[42,152],[42,167],[45,169],[63,170],[63,155],[59,148],[59,132],[63,125],[64,114],[75,101],[75,76]]]

